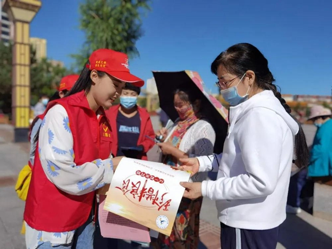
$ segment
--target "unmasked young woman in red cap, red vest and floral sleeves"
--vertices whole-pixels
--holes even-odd
[[[111,182],[121,160],[111,159],[103,107],[125,82],[144,85],[130,74],[125,54],[99,49],[67,96],[46,109],[24,214],[27,248],[92,248],[95,190]]]

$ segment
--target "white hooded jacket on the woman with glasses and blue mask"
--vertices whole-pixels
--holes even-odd
[[[275,228],[286,219],[298,124],[272,91],[231,107],[229,120],[223,154],[198,158],[199,171],[217,171],[220,162],[217,181],[203,181],[202,194],[217,201],[218,217],[225,225]]]

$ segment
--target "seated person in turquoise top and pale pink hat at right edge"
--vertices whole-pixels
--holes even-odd
[[[313,213],[314,183],[332,186],[332,122],[331,110],[323,106],[313,106],[309,121],[316,126],[316,134],[310,146],[310,162],[308,167],[301,168],[291,177],[287,212],[297,214],[304,210]]]

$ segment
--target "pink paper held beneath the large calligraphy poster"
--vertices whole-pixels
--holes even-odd
[[[105,199],[106,195],[100,195],[99,225],[103,237],[141,242],[151,241],[147,227],[104,210]]]

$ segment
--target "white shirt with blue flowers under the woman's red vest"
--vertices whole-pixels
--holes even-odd
[[[92,162],[76,165],[74,140],[68,126],[68,114],[63,106],[52,107],[42,120],[38,153],[46,177],[62,191],[82,195],[111,182],[113,163],[110,158],[96,158]],[[46,211],[45,211],[46,212]],[[70,244],[74,231],[51,233],[35,230],[26,225],[27,248],[37,248],[44,242],[54,245]]]

